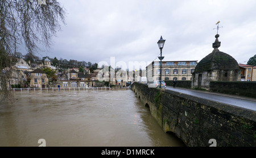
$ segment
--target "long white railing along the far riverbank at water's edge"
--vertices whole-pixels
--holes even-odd
[[[71,88],[11,88],[10,90],[15,91],[36,91],[36,90],[40,90],[40,91],[71,91],[71,90],[118,90],[118,89],[130,89],[129,87],[118,87],[118,88],[110,88],[110,87],[82,87],[82,88],[77,88],[77,87],[71,87]]]

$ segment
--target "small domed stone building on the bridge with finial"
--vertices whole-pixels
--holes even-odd
[[[221,42],[216,35],[212,53],[204,57],[195,68],[192,88],[209,89],[210,81],[241,81],[241,70],[237,61],[230,55],[218,50]]]

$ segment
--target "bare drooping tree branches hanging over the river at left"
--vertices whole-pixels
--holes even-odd
[[[0,1],[0,77],[1,94],[7,95],[5,68],[11,67],[11,56],[20,44],[27,53],[38,51],[38,45],[48,49],[52,36],[65,24],[65,11],[56,0]]]

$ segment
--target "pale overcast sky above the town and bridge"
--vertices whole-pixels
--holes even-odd
[[[217,33],[220,51],[238,63],[256,54],[256,1],[59,0],[67,12],[66,26],[41,56],[98,63],[110,57],[151,62],[166,39],[164,60],[198,60],[213,51]],[[113,58],[112,58],[113,59]]]

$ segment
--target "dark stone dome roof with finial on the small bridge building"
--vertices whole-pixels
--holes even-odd
[[[195,68],[195,72],[204,72],[209,70],[236,70],[240,69],[237,61],[230,55],[218,50],[220,47],[220,41],[218,41],[219,35],[217,34],[216,40],[213,43],[213,52],[204,57]]]

